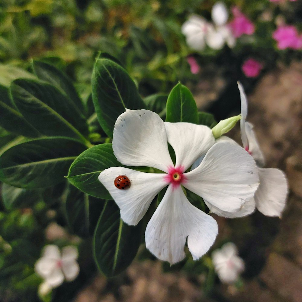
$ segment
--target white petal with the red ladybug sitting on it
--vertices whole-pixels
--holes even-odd
[[[119,175],[129,178],[129,188],[120,190],[115,187],[114,179]],[[98,179],[119,206],[122,220],[129,225],[137,225],[146,214],[153,198],[167,185],[165,175],[112,167],[101,172]]]

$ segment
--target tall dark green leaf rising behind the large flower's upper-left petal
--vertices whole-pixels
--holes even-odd
[[[127,71],[106,58],[95,61],[92,74],[92,98],[98,121],[111,138],[115,121],[125,112],[125,108],[146,108]]]

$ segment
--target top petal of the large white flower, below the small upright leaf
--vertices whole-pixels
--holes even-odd
[[[175,151],[175,167],[182,166],[184,171],[214,145],[212,130],[207,126],[165,122],[165,127],[168,142]]]

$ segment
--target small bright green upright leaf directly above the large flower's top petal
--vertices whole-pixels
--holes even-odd
[[[198,124],[198,111],[190,90],[178,83],[170,92],[166,107],[166,122]]]

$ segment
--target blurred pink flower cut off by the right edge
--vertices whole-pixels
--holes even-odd
[[[293,25],[279,26],[273,33],[272,37],[277,41],[277,47],[280,50],[291,48],[302,48],[302,36],[299,36],[297,28]]]

